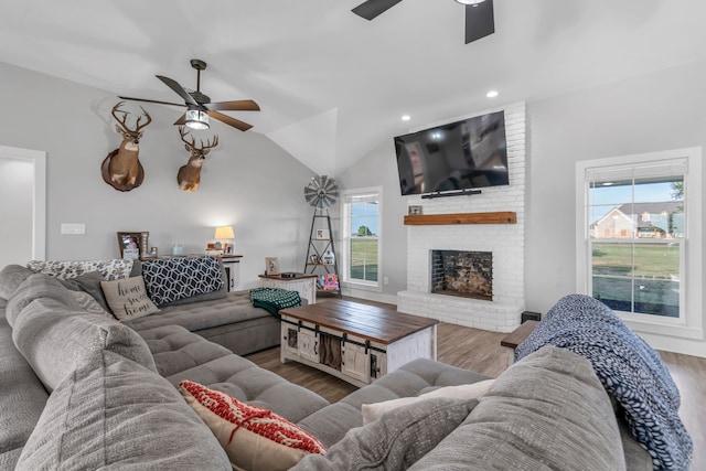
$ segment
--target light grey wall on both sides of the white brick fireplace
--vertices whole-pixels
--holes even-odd
[[[527,101],[527,310],[546,312],[560,297],[576,292],[576,162],[695,146],[706,149],[704,84],[706,63],[700,62]],[[406,278],[403,216],[407,211],[399,196],[392,138],[339,176],[346,189],[384,188],[388,245],[383,248],[383,268],[394,269],[396,278],[395,285],[391,278],[384,287],[389,296],[404,289],[397,281]],[[392,277],[393,271],[386,272]],[[706,356],[703,341],[643,336],[664,350]]]

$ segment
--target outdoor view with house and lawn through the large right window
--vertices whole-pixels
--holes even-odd
[[[590,182],[596,299],[622,312],[681,315],[684,204],[683,175]]]

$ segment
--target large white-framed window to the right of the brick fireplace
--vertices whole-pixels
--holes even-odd
[[[699,161],[685,149],[577,163],[579,292],[634,322],[699,315]]]

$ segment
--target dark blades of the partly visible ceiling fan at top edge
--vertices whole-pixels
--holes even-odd
[[[352,11],[361,18],[373,20],[402,0],[367,0]],[[466,6],[466,44],[495,32],[493,0],[456,0]]]

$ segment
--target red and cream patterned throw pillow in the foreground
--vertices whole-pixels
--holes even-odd
[[[190,381],[179,383],[179,390],[216,436],[234,469],[288,470],[304,456],[325,451],[315,437],[271,410]]]

